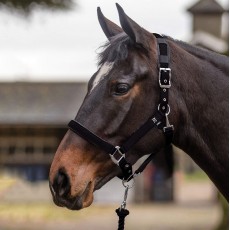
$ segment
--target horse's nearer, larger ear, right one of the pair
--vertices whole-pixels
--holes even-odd
[[[148,44],[146,43],[145,39],[145,33],[147,31],[139,26],[136,22],[134,22],[130,17],[128,17],[123,8],[118,3],[116,3],[116,6],[119,13],[121,27],[125,33],[131,38],[133,42],[141,44],[144,48],[148,48]]]

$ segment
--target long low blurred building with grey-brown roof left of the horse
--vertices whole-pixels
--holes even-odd
[[[85,92],[86,83],[1,83],[1,170],[29,181],[47,179]]]

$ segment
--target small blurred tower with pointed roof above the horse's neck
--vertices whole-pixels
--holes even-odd
[[[188,9],[193,16],[191,43],[209,50],[228,50],[228,9],[215,0],[200,0]]]

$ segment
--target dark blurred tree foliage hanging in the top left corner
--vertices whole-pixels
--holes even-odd
[[[70,10],[74,0],[0,0],[0,9],[28,16],[36,8],[47,10]]]

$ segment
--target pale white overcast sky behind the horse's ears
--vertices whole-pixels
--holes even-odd
[[[68,12],[35,11],[29,18],[0,11],[0,81],[88,81],[106,37],[97,20],[119,25],[115,3],[150,32],[189,42],[197,0],[77,0]],[[227,6],[228,0],[218,0]]]

